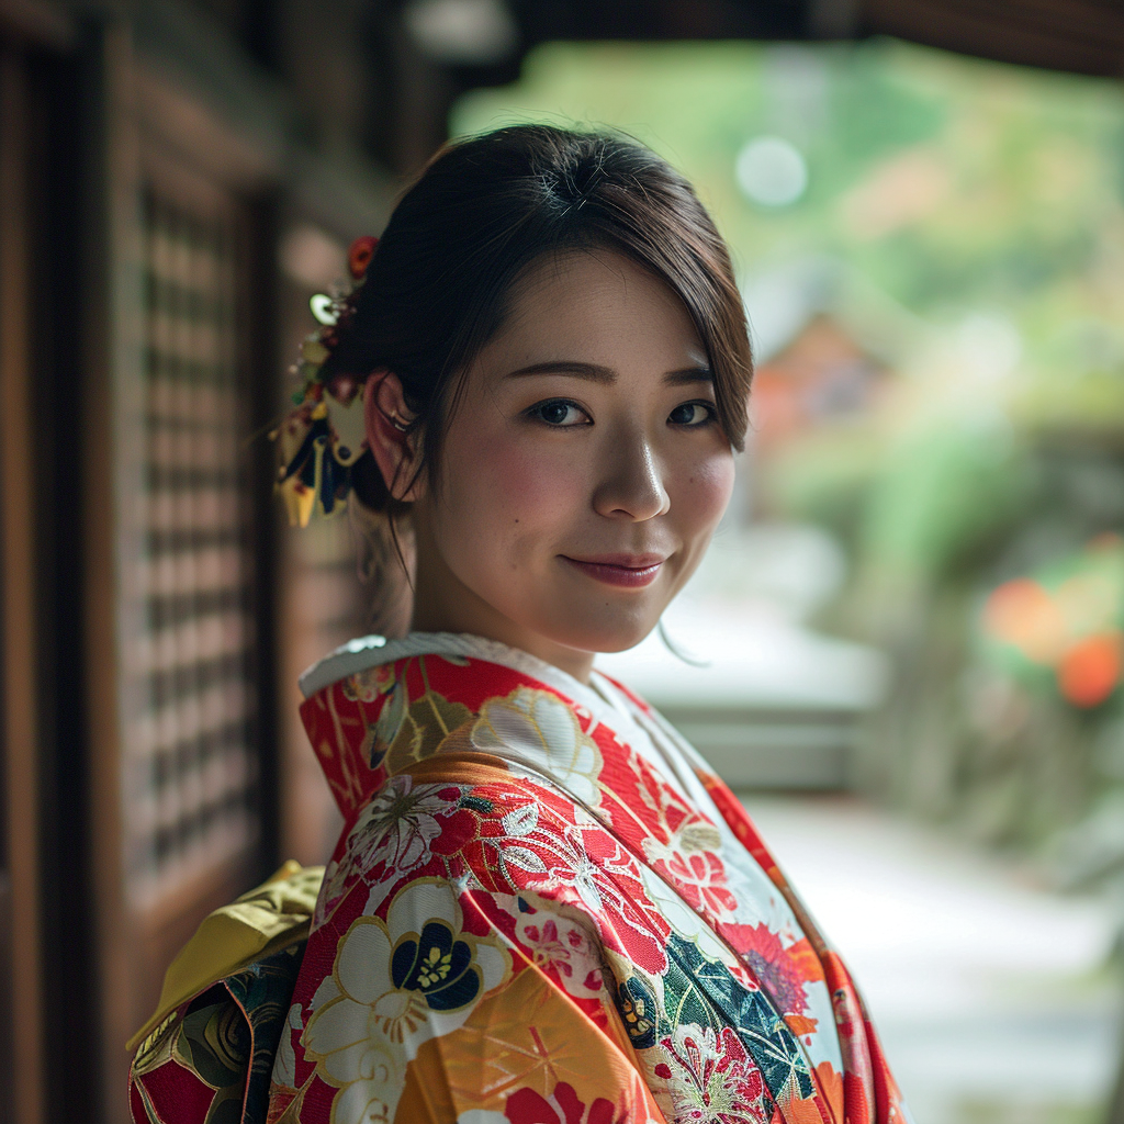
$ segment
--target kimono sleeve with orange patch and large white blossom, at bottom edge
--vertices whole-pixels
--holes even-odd
[[[269,1120],[662,1122],[606,991],[579,918],[416,879],[290,1015]]]

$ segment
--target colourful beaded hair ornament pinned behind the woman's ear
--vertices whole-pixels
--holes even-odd
[[[320,327],[306,336],[300,362],[292,368],[301,386],[293,391],[296,409],[284,416],[270,434],[277,445],[277,491],[284,500],[292,526],[308,526],[314,511],[332,515],[342,510],[352,488],[355,463],[366,453],[366,439],[348,445],[336,433],[325,396],[345,409],[362,390],[355,374],[336,373],[326,382],[324,364],[339,339],[339,333],[355,315],[355,299],[363,285],[379,239],[356,238],[347,253],[352,284],[336,285],[329,294],[317,293],[309,301]]]

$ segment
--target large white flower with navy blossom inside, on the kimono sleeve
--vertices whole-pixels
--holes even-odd
[[[422,1043],[463,1025],[507,976],[502,945],[462,923],[450,886],[419,879],[395,897],[386,922],[361,916],[339,942],[338,995],[314,1012],[301,1040],[339,1089],[333,1124],[392,1120]]]

